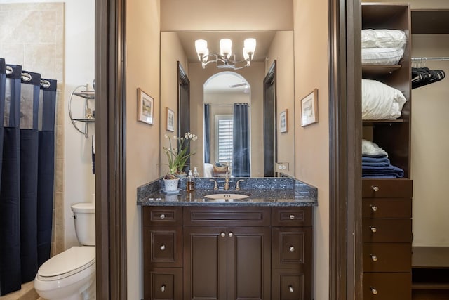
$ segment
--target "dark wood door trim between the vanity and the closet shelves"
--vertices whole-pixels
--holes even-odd
[[[361,2],[330,0],[328,13],[329,299],[361,299]]]

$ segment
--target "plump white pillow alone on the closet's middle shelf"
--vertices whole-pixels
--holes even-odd
[[[362,119],[397,119],[407,99],[380,81],[362,79]]]

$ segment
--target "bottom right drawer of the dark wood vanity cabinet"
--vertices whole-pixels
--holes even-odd
[[[311,274],[296,270],[272,270],[272,299],[311,299]]]

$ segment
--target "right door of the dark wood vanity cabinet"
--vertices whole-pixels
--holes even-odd
[[[270,299],[269,227],[227,228],[227,299]]]

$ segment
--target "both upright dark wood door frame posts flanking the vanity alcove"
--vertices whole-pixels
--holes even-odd
[[[360,0],[328,0],[329,299],[361,299]],[[98,299],[126,299],[126,0],[95,0]],[[349,179],[350,178],[350,179]]]

